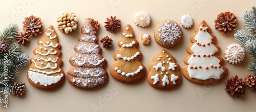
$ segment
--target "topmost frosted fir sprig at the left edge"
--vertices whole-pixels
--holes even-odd
[[[0,40],[5,40],[8,43],[11,43],[14,40],[14,37],[18,33],[18,25],[10,24],[3,32],[0,32]]]

